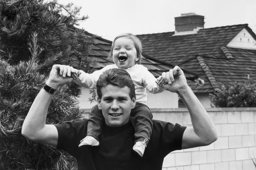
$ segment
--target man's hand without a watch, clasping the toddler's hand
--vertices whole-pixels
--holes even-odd
[[[170,92],[180,92],[188,87],[183,71],[177,65],[168,72],[163,72],[162,76],[157,78],[159,86]]]

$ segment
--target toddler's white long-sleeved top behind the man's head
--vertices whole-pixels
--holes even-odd
[[[96,88],[96,82],[99,79],[101,73],[111,68],[118,67],[116,64],[107,65],[104,68],[94,71],[91,74],[85,73],[84,71],[80,70],[81,74],[74,81],[78,85],[83,86],[85,88]],[[135,95],[137,102],[147,104],[146,89],[148,89],[148,91],[153,94],[161,93],[165,90],[155,82],[156,78],[143,65],[135,64],[134,66],[127,68],[125,70],[130,74],[132,81],[135,85]]]

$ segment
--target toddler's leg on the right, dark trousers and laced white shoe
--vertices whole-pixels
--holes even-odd
[[[130,120],[135,129],[134,132],[134,146],[135,150],[141,157],[144,154],[145,147],[147,146],[153,128],[153,115],[149,108],[142,104],[136,103],[136,106],[131,111]]]

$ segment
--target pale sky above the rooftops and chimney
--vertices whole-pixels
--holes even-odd
[[[81,6],[79,23],[89,33],[111,40],[122,33],[152,34],[175,31],[174,17],[196,13],[204,28],[248,24],[256,33],[256,0],[59,0]]]

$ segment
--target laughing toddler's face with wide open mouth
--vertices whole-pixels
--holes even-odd
[[[137,51],[131,39],[126,37],[116,39],[113,48],[113,61],[118,68],[130,68],[138,60]]]

